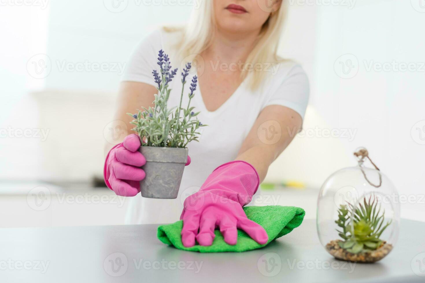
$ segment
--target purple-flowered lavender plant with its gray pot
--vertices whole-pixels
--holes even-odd
[[[168,83],[177,73],[177,68],[172,70],[170,58],[164,51],[159,50],[158,65],[160,73],[153,70],[153,78],[158,84],[158,93],[155,94],[154,107],[138,110],[137,114],[130,114],[134,120],[133,131],[140,137],[142,146],[140,152],[146,158],[146,164],[142,166],[146,177],[140,182],[142,196],[156,199],[177,198],[184,165],[187,163],[187,144],[192,140],[198,141],[199,127],[206,126],[199,122],[194,112],[195,107],[190,106],[194,91],[198,83],[198,77],[193,76],[190,84],[189,102],[186,108],[182,107],[184,85],[189,75],[191,64],[187,63],[181,73],[180,104],[168,108],[167,101],[171,89]]]

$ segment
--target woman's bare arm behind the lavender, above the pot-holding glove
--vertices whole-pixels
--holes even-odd
[[[119,136],[119,140],[117,140],[116,143],[121,143],[128,134],[133,133],[131,131],[133,125],[130,124],[133,118],[126,113],[136,113],[136,109],[153,106],[154,94],[156,92],[156,87],[150,84],[134,81],[123,81],[120,84],[119,95],[116,102],[116,112],[113,118],[115,125],[112,126],[122,125],[122,122],[124,122],[127,126],[127,131],[123,129],[124,134]],[[105,144],[105,155],[108,154],[113,146],[114,145],[111,143]]]

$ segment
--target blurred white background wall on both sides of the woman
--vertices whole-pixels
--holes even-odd
[[[192,8],[128,0],[116,12],[124,6],[113,8],[111,1],[51,0],[44,9],[0,7],[0,24],[7,26],[0,29],[0,128],[50,130],[45,141],[0,138],[1,179],[88,180],[101,175],[104,129],[112,117],[119,71],[60,66],[123,65],[147,32],[184,22]],[[415,1],[340,1],[334,6],[289,1],[280,54],[303,64],[309,74],[304,129],[351,130],[354,136],[297,137],[270,168],[269,180],[300,180],[318,188],[333,171],[355,165],[352,152],[366,146],[400,192],[423,194],[425,67],[420,65],[425,61],[425,8],[419,6],[422,0]],[[27,68],[37,54],[46,54],[35,57],[37,62],[50,62],[44,78],[34,76],[47,73],[37,75]],[[348,59],[353,71],[341,78]],[[367,69],[371,62],[393,61],[413,63],[416,70]]]

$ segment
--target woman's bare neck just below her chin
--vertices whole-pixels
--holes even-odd
[[[257,41],[259,32],[235,34],[217,28],[211,45],[202,53],[209,59],[223,63],[245,62]]]

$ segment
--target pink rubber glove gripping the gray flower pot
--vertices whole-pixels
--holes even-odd
[[[136,196],[140,192],[140,181],[145,177],[140,166],[146,163],[146,159],[139,148],[139,136],[130,134],[106,156],[103,178],[108,188],[119,196]],[[189,164],[190,157],[187,157],[186,165]]]

